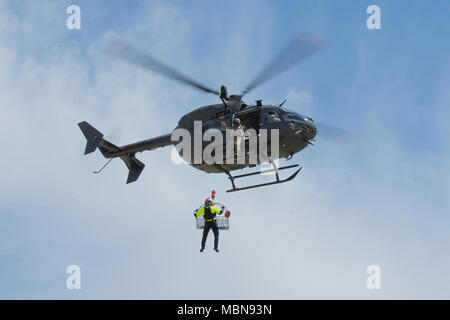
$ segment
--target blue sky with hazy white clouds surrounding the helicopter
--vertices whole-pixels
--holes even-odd
[[[66,28],[72,4],[80,30]],[[0,298],[449,299],[449,13],[444,0],[0,0]],[[137,155],[136,183],[121,161],[92,174],[105,159],[83,155],[78,122],[123,145],[218,102],[107,56],[112,39],[239,93],[301,31],[329,46],[246,101],[287,98],[354,135],[319,131],[290,160],[294,181],[226,193],[226,176],[175,165],[170,148]],[[192,212],[212,189],[231,228],[200,254]]]

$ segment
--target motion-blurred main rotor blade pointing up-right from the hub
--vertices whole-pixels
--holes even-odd
[[[323,40],[306,33],[298,35],[247,85],[242,94],[271,80],[324,47],[326,44]]]

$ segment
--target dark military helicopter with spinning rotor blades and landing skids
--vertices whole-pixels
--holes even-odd
[[[236,119],[238,119],[237,122],[240,123],[240,125],[245,126],[247,129],[252,128],[256,132],[260,132],[262,129],[269,131],[273,129],[279,130],[279,153],[276,159],[271,158],[269,160],[272,164],[271,169],[232,176],[230,173],[231,171],[254,167],[262,162],[258,160],[257,164],[251,164],[248,159],[246,159],[244,163],[239,164],[207,164],[204,161],[201,163],[188,161],[194,168],[207,173],[225,173],[232,184],[232,188],[227,190],[227,192],[235,192],[291,181],[302,169],[301,167],[298,168],[300,166],[299,164],[277,167],[275,165],[275,160],[281,158],[289,160],[295,153],[303,150],[308,145],[312,145],[311,141],[314,140],[317,134],[315,122],[310,117],[283,108],[283,104],[286,100],[279,105],[264,105],[262,100],[255,101],[255,104],[246,104],[242,98],[257,86],[274,78],[298,62],[305,60],[323,47],[325,47],[324,41],[312,35],[301,34],[297,36],[246,86],[241,94],[232,95],[228,95],[226,86],[221,86],[220,91],[208,88],[124,41],[116,40],[113,42],[112,45],[109,46],[107,53],[129,64],[159,73],[203,92],[219,96],[221,103],[203,106],[185,114],[178,121],[178,126],[174,130],[183,128],[192,132],[194,130],[194,121],[202,121],[202,134],[211,128],[222,130],[225,134],[226,128],[232,128],[236,123]],[[112,159],[120,158],[129,169],[127,183],[136,181],[145,167],[145,165],[136,158],[137,152],[174,145],[171,140],[172,134],[168,133],[118,147],[103,139],[103,134],[86,121],[78,123],[78,126],[87,140],[84,154],[92,153],[98,148],[105,158],[110,159],[99,171],[95,171],[94,173],[99,173],[103,170]],[[329,129],[328,131],[331,130],[335,133],[337,132],[337,135],[339,136],[347,134],[347,132],[342,129],[333,128],[331,126],[326,126],[325,128]],[[271,141],[269,139],[268,145],[270,144]],[[246,145],[248,145],[248,143]],[[205,143],[203,143],[202,148],[205,148]],[[180,156],[183,157],[182,152],[179,151],[179,153]],[[278,174],[280,170],[293,168],[297,168],[294,173],[285,179],[280,179]],[[235,179],[259,175],[266,172],[274,172],[275,180],[256,185],[236,187]]]

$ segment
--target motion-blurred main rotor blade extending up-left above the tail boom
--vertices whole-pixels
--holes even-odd
[[[181,74],[180,72],[172,69],[171,67],[163,64],[162,62],[156,60],[151,57],[149,54],[144,53],[130,44],[116,40],[109,47],[107,52],[115,56],[123,61],[126,61],[130,64],[134,64],[138,67],[142,67],[144,69],[159,73],[164,75],[170,79],[182,82],[184,84],[190,85],[194,88],[200,89],[205,92],[213,93],[219,95],[219,92],[216,90],[212,90],[204,85],[198,83],[195,80],[190,79],[189,77]]]

